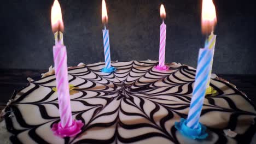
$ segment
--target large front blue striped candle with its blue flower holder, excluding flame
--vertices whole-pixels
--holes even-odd
[[[203,100],[207,88],[207,81],[210,79],[211,60],[213,49],[200,49],[197,61],[196,77],[193,88],[193,97],[191,99],[188,118],[181,119],[181,122],[176,122],[175,127],[185,136],[192,139],[205,139],[207,133],[206,128],[199,123],[200,114],[202,111]]]

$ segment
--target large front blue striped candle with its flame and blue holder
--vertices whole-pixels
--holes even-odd
[[[207,4],[205,4],[207,1]],[[210,2],[209,2],[210,1]],[[213,31],[213,27],[216,24],[216,15],[215,7],[212,0],[203,0],[202,5],[202,32],[207,34],[208,32]],[[207,8],[206,8],[207,7]],[[209,15],[205,15],[205,10],[212,17],[208,17]],[[210,36],[210,37],[213,37]],[[206,127],[199,123],[200,115],[203,106],[203,100],[205,99],[205,93],[207,88],[207,82],[210,79],[210,71],[212,67],[212,58],[214,47],[213,41],[214,38],[211,38],[211,43],[208,43],[206,40],[205,49],[200,49],[199,57],[197,60],[197,68],[196,68],[196,77],[193,88],[193,97],[191,99],[188,118],[181,118],[181,122],[176,122],[175,127],[185,136],[190,137],[191,139],[205,139],[208,134],[206,133]]]

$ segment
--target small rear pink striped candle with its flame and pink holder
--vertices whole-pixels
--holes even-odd
[[[162,18],[162,24],[160,26],[160,43],[159,43],[159,64],[155,67],[158,70],[167,70],[165,65],[165,41],[166,41],[166,25],[165,25],[165,7],[161,4],[160,17]]]

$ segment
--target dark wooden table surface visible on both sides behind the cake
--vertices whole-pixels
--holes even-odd
[[[0,69],[0,90],[2,93],[0,105],[3,106],[7,103],[14,90],[27,85],[27,77],[38,80],[45,71],[48,70]],[[246,93],[247,97],[256,105],[256,75],[217,75],[233,83],[240,91]]]

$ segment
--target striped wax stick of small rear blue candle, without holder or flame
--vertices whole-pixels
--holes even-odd
[[[104,55],[105,55],[105,68],[109,69],[111,67],[110,62],[110,47],[109,47],[109,35],[108,29],[105,28],[102,30],[103,32],[103,44],[104,44]]]

